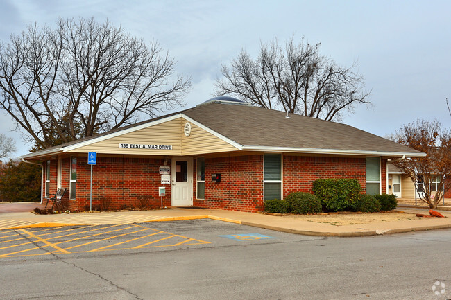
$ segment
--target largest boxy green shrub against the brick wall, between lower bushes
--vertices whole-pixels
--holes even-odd
[[[357,179],[316,179],[313,192],[328,211],[345,211],[355,208],[361,186]]]

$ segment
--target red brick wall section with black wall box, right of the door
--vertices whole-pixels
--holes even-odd
[[[212,173],[221,173],[221,182],[212,182]],[[262,211],[263,155],[205,158],[205,200],[195,200],[194,205],[234,211]]]

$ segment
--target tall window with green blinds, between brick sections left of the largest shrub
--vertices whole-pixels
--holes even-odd
[[[263,200],[282,198],[282,155],[265,154],[263,161]]]

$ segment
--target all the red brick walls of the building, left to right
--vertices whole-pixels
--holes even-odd
[[[205,158],[205,200],[196,199],[196,168],[193,160],[194,206],[236,211],[263,209],[263,155]],[[110,199],[110,209],[137,206],[139,198],[151,197],[151,205],[160,207],[159,167],[164,159],[97,157],[93,167],[93,208],[102,197]],[[171,165],[169,160],[168,165]],[[382,193],[386,189],[386,160],[382,159]],[[51,161],[51,190],[56,192],[58,161]],[[211,182],[212,173],[221,173],[221,182]],[[45,174],[45,173],[44,173]],[[69,200],[70,159],[62,159],[62,187],[70,209],[85,210],[90,205],[90,165],[85,155],[77,157],[76,201]],[[337,157],[283,157],[283,196],[295,191],[312,193],[318,178],[356,178],[366,188],[366,159]],[[45,179],[43,179],[44,182]],[[45,182],[44,182],[45,184]],[[167,185],[164,206],[171,205],[171,186]]]

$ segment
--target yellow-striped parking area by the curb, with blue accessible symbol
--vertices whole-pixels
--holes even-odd
[[[154,252],[198,247],[280,242],[284,235],[264,233],[265,229],[237,227],[216,220],[144,222],[64,227],[36,227],[0,230],[0,260],[3,258],[53,258],[78,254]],[[285,236],[286,237],[286,236]],[[296,240],[318,237],[298,236]]]

